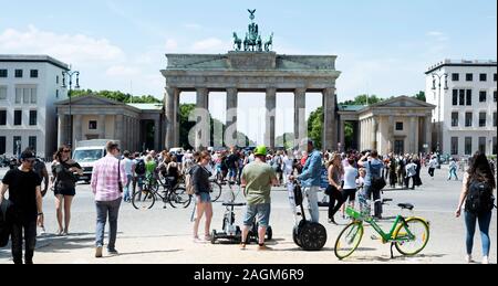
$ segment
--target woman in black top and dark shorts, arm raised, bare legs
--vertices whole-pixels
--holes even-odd
[[[58,235],[68,235],[71,222],[71,205],[76,195],[77,176],[82,176],[81,166],[71,159],[71,148],[59,147],[53,156],[52,183],[55,195],[55,211],[59,223]],[[62,227],[62,206],[64,206],[64,227]]]

